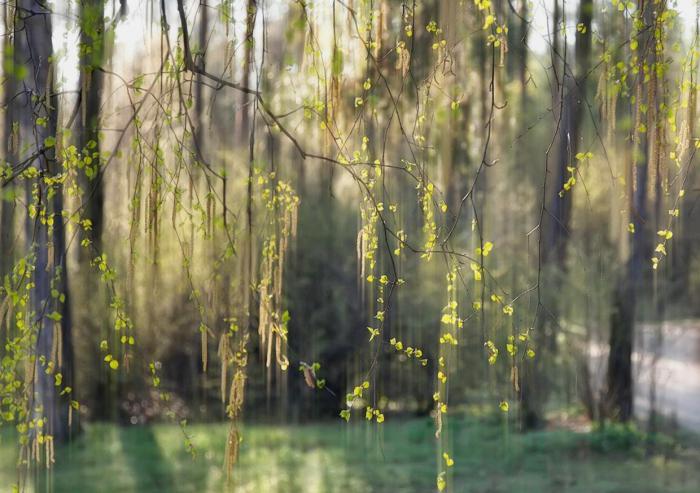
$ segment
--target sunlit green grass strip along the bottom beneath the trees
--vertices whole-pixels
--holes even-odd
[[[652,493],[700,491],[700,450],[670,440],[649,453],[636,432],[514,433],[498,420],[452,419],[450,491]],[[57,451],[50,491],[430,492],[435,491],[434,427],[428,420],[249,426],[227,485],[225,424],[189,427],[92,425]],[[0,442],[0,491],[15,477],[11,440]],[[42,472],[41,474],[45,474]],[[5,488],[7,486],[7,488]],[[41,488],[44,490],[44,488]],[[49,491],[49,490],[47,490]]]

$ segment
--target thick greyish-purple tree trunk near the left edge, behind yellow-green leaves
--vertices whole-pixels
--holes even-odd
[[[27,54],[29,76],[25,80],[27,89],[32,92],[31,111],[34,121],[45,119],[46,125],[34,124],[33,139],[36,150],[41,151],[37,159],[41,173],[55,176],[61,172],[56,161],[56,146],[49,142],[56,136],[58,121],[58,100],[53,94],[54,67],[52,66],[53,45],[51,41],[51,12],[43,2],[38,0],[20,0],[23,19],[23,36],[26,44],[23,48]],[[26,15],[26,12],[32,12]],[[33,152],[33,151],[32,151]],[[55,442],[65,442],[69,438],[69,399],[61,396],[62,388],[73,387],[71,322],[68,311],[68,283],[66,269],[66,243],[63,227],[63,192],[61,186],[48,193],[49,187],[44,180],[39,180],[39,209],[45,210],[47,217],[52,214],[54,225],[42,224],[39,216],[32,223],[31,236],[27,239],[32,244],[35,255],[34,291],[32,309],[38,318],[39,329],[36,342],[35,397],[43,415],[47,419],[47,432]],[[50,202],[49,202],[50,200]],[[65,295],[64,301],[51,295],[57,289]],[[54,314],[49,318],[50,314]],[[62,384],[56,385],[55,375],[62,375]]]

